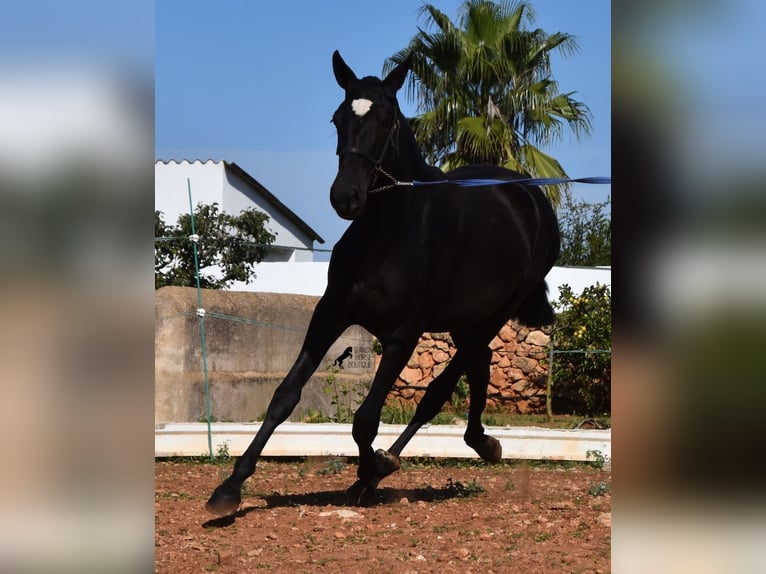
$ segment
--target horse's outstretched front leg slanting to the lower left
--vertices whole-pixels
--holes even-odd
[[[325,298],[319,300],[311,318],[306,339],[290,372],[271,397],[266,417],[255,438],[234,464],[234,469],[210,496],[205,508],[213,514],[226,516],[236,512],[241,501],[242,484],[255,472],[255,465],[274,430],[293,412],[300,401],[303,386],[319,367],[330,345],[348,326],[340,321],[339,308]]]

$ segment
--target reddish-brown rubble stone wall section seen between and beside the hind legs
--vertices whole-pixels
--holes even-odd
[[[518,413],[545,412],[547,345],[550,337],[514,322],[507,323],[490,343],[487,408]],[[389,400],[416,404],[428,384],[455,354],[448,333],[426,333],[394,385]]]

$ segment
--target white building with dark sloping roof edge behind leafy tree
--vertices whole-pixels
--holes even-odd
[[[271,219],[266,227],[277,236],[264,261],[313,261],[314,241],[324,243],[319,234],[277,199],[255,178],[227,161],[169,160],[154,164],[154,208],[167,224],[189,213],[189,187],[192,203],[217,203],[221,211],[237,215],[256,208]]]

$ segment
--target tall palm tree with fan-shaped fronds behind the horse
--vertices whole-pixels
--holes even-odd
[[[523,1],[466,0],[457,25],[431,4],[419,16],[426,28],[386,61],[384,73],[412,54],[407,93],[417,102],[412,125],[429,163],[567,177],[541,148],[560,140],[565,126],[578,139],[590,134],[590,110],[574,92],[559,93],[551,74],[551,53],[572,55],[576,39],[530,29],[534,12]],[[557,206],[558,186],[546,192]]]

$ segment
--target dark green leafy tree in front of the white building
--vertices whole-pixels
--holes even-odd
[[[194,230],[199,236],[197,260],[200,287],[223,289],[234,281],[255,276],[254,266],[267,253],[276,236],[266,228],[269,216],[256,209],[239,215],[223,213],[217,203],[197,204]],[[191,216],[179,216],[168,225],[160,211],[154,212],[154,288],[166,285],[196,287]]]

